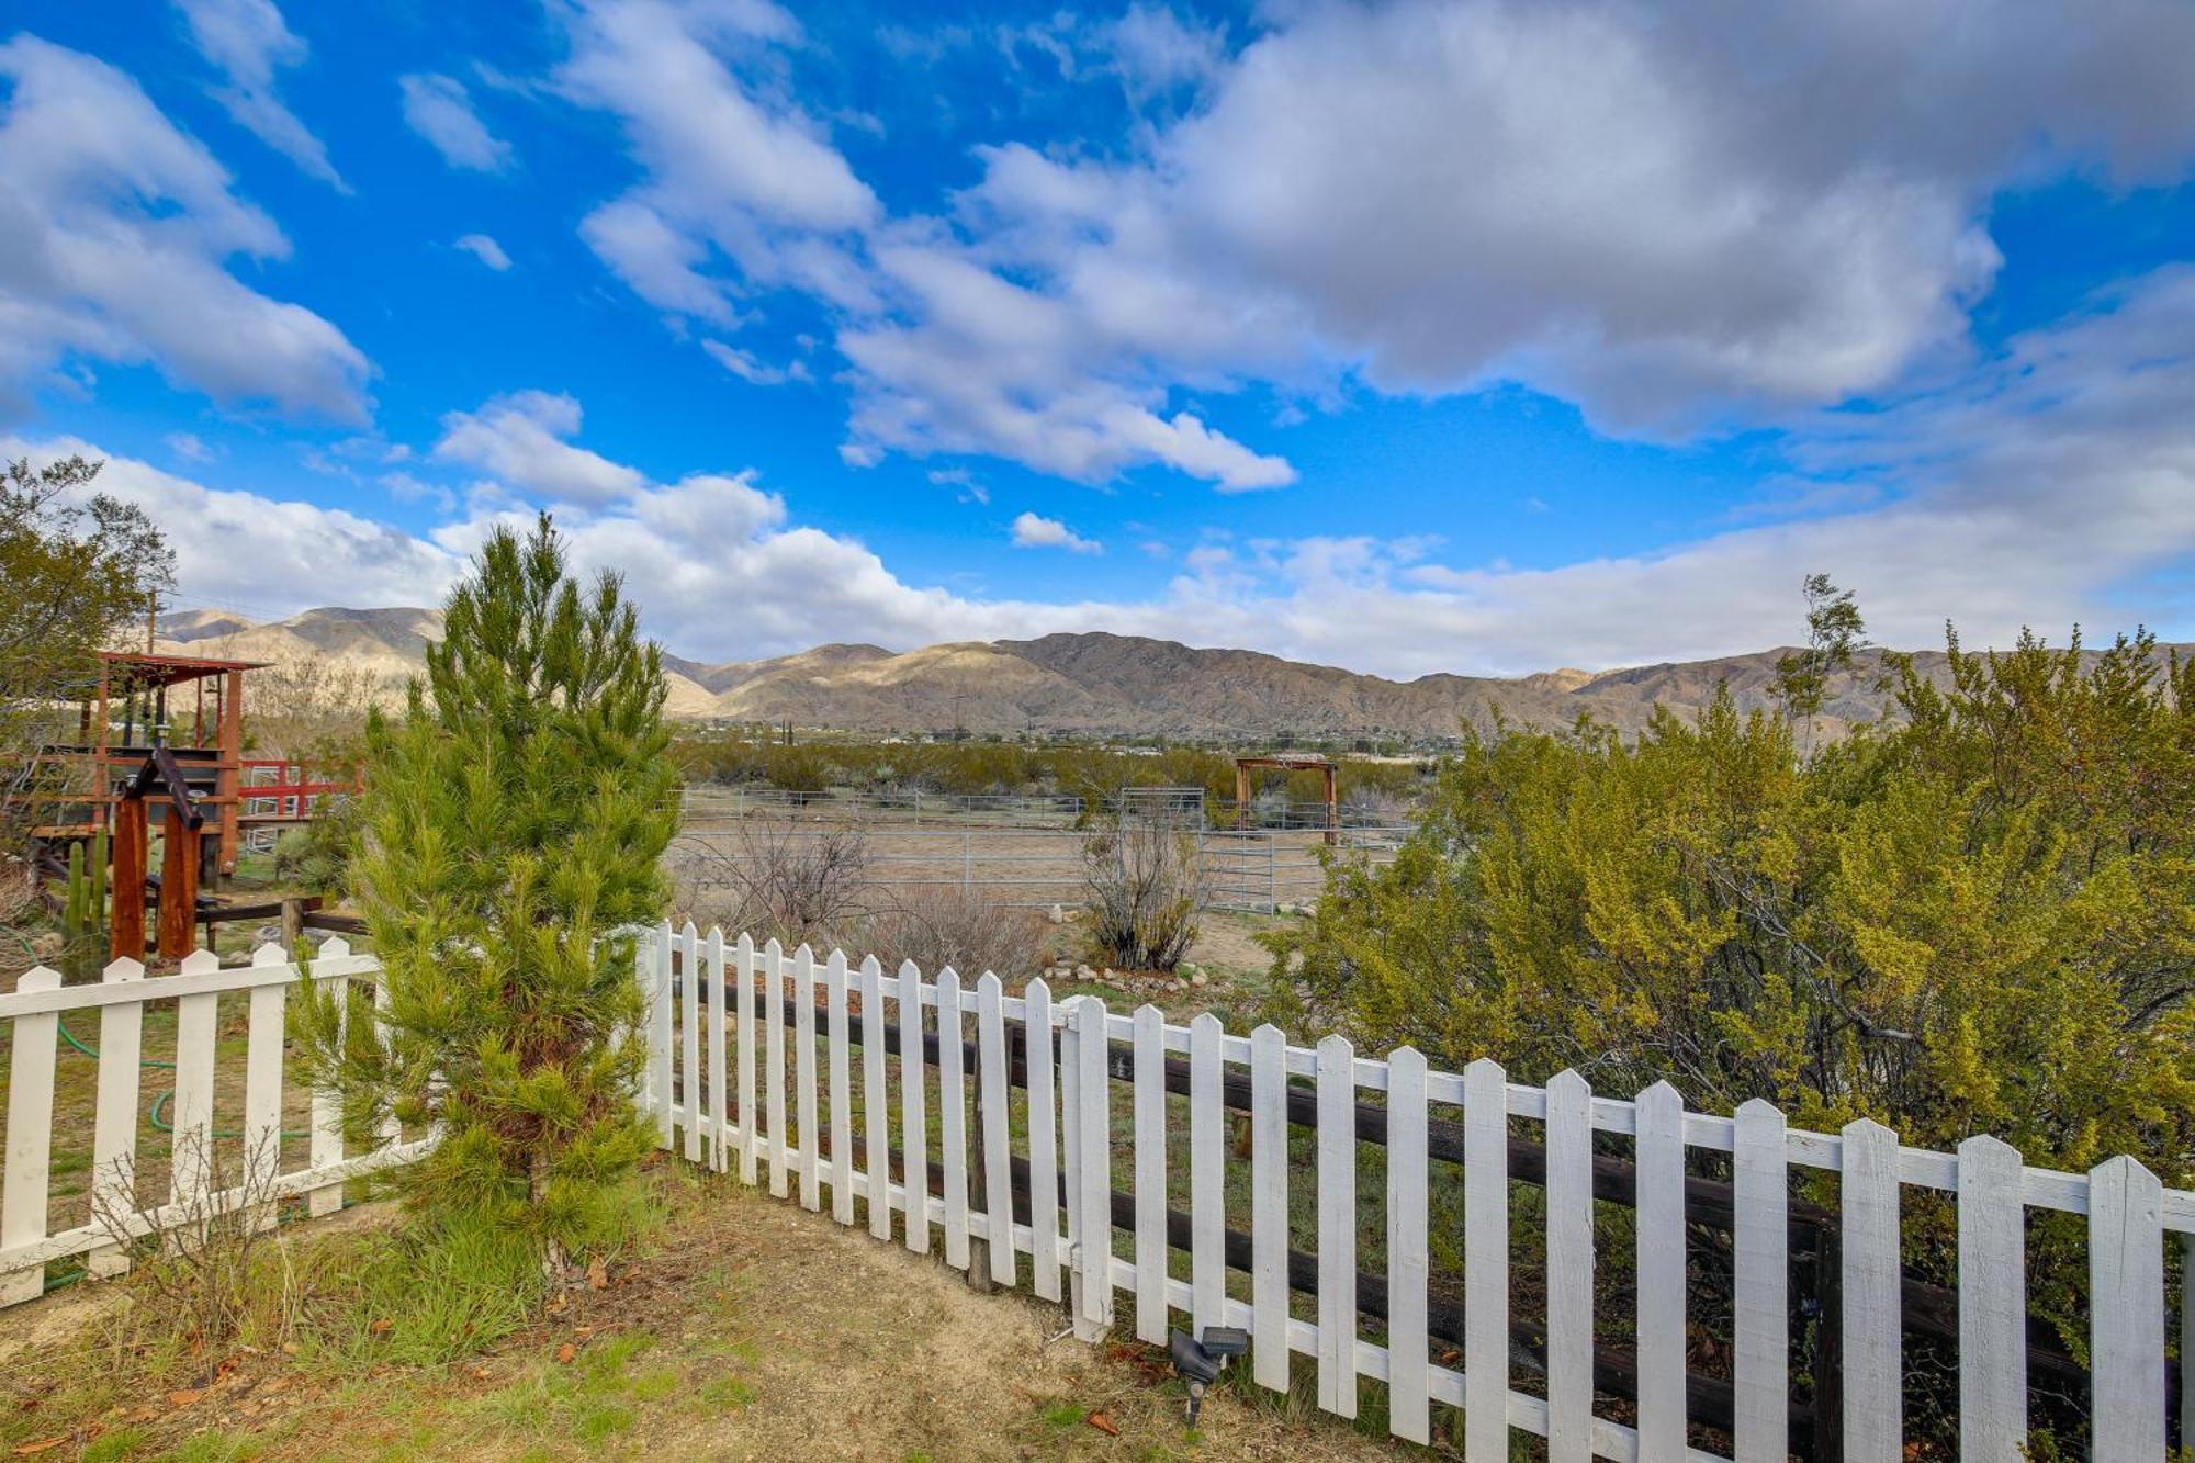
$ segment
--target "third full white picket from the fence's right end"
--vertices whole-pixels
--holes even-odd
[[[1848,1463],[1901,1463],[1899,1136],[1868,1118],[1848,1123],[1842,1188],[1844,1456]]]

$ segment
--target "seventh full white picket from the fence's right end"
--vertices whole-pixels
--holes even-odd
[[[1508,1074],[1464,1068],[1464,1456],[1508,1459]]]

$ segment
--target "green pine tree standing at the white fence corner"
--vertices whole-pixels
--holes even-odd
[[[547,516],[498,529],[367,742],[353,887],[389,1006],[307,999],[307,1076],[360,1138],[439,1125],[399,1180],[413,1206],[560,1267],[615,1239],[648,1151],[632,929],[663,909],[676,824],[661,652],[617,576],[566,576]]]

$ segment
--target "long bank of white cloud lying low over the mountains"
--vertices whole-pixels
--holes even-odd
[[[575,562],[623,571],[650,633],[689,657],[1115,630],[1394,677],[1521,674],[1758,650],[1798,630],[1809,571],[1855,589],[1877,639],[1894,646],[1936,644],[1945,619],[1969,644],[2006,644],[2024,624],[2063,639],[2074,622],[2109,633],[2138,617],[2195,637],[2195,602],[2153,578],[2195,554],[2188,400],[2195,268],[2173,268],[2015,338],[1965,378],[1798,422],[1796,483],[1872,490],[1839,499],[1842,512],[1534,569],[1442,562],[1422,536],[1207,534],[1163,591],[1128,602],[990,600],[909,582],[858,540],[799,523],[797,505],[751,472],[656,483],[577,446],[579,404],[544,393],[446,417],[437,457],[494,485],[426,538],[130,459],[101,485],[169,529],[184,589],[255,604],[430,604],[492,523],[575,503],[558,514]],[[70,450],[99,455],[75,439],[0,442],[7,457]],[[950,472],[937,468],[948,483]],[[417,479],[384,488],[439,492]],[[244,536],[248,556],[235,551]],[[1038,514],[1023,514],[1014,538],[1089,545]],[[2123,600],[2127,587],[2142,589],[2140,608]],[[727,615],[733,598],[740,613]]]

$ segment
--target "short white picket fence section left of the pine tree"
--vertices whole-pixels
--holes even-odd
[[[209,951],[182,960],[173,975],[145,975],[136,960],[116,960],[99,984],[64,986],[61,975],[46,967],[26,971],[13,993],[0,995],[0,1019],[11,1021],[7,1092],[7,1169],[0,1171],[0,1307],[35,1298],[44,1287],[46,1265],[86,1257],[92,1276],[127,1270],[127,1254],[116,1246],[116,1226],[99,1219],[123,1219],[130,1235],[151,1235],[182,1224],[200,1224],[211,1213],[237,1204],[305,1195],[314,1215],[342,1206],[342,1184],[391,1164],[402,1164],[428,1149],[428,1140],[406,1142],[389,1129],[367,1153],[345,1155],[336,1103],[314,1094],[309,1149],[303,1164],[285,1164],[281,1155],[283,1123],[283,1015],[290,986],[299,980],[364,980],[373,982],[380,962],[353,956],[342,940],[327,940],[301,971],[274,945],[263,945],[250,964],[224,967]],[[248,993],[244,1109],[217,1112],[217,1017],[219,1002],[233,991]],[[380,991],[380,989],[378,989]],[[147,1127],[143,1061],[154,1057],[145,1041],[145,1008],[176,1002],[173,1098],[169,1125],[178,1162],[169,1171],[167,1202],[143,1195],[145,1184],[127,1180],[140,1173],[138,1140]],[[97,1026],[94,1026],[97,1013]],[[99,1052],[97,1098],[92,1112],[90,1186],[61,1228],[50,1228],[53,1208],[53,1140],[55,1083],[59,1061],[88,1063],[75,1048],[61,1054],[61,1021]],[[97,1030],[97,1035],[92,1035]],[[239,1125],[239,1155],[252,1171],[235,1173],[237,1182],[213,1188],[215,1123]],[[147,1164],[149,1166],[149,1164]],[[143,1204],[143,1206],[140,1206]]]

